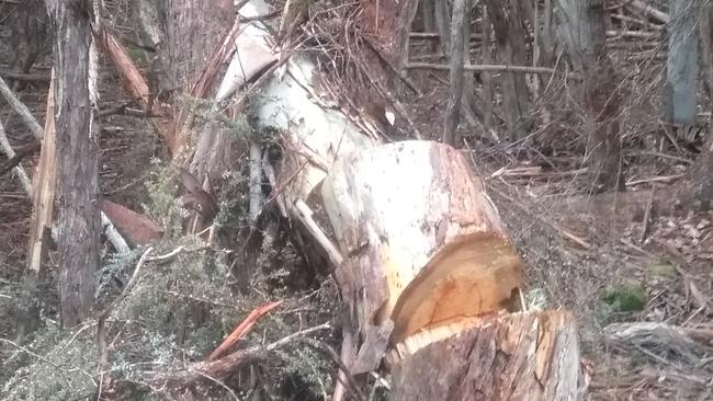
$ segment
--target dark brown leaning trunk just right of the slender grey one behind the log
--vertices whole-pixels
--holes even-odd
[[[523,26],[524,13],[520,0],[487,0],[486,4],[502,62],[509,66],[527,66],[528,35]],[[500,84],[510,138],[522,139],[528,131],[525,77],[518,72],[503,72]]]

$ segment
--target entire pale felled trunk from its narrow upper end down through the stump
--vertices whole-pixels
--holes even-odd
[[[281,133],[273,196],[337,267],[358,334],[351,373],[386,356],[395,400],[574,398],[574,319],[522,311],[522,262],[466,159],[432,141],[383,145],[316,95],[319,81],[293,55],[254,117]]]

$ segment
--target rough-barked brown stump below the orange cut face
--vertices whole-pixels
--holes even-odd
[[[579,351],[562,311],[509,314],[433,342],[393,370],[392,400],[576,400]]]

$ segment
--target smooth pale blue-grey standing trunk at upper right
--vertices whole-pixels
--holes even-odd
[[[698,1],[669,0],[668,58],[664,105],[666,119],[679,129],[686,139],[695,123],[698,104],[698,41],[695,20]]]

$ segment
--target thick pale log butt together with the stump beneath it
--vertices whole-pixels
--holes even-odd
[[[575,321],[521,311],[521,260],[455,149],[407,141],[351,153],[322,199],[362,334],[353,374],[376,368],[384,350],[394,400],[574,397]]]

